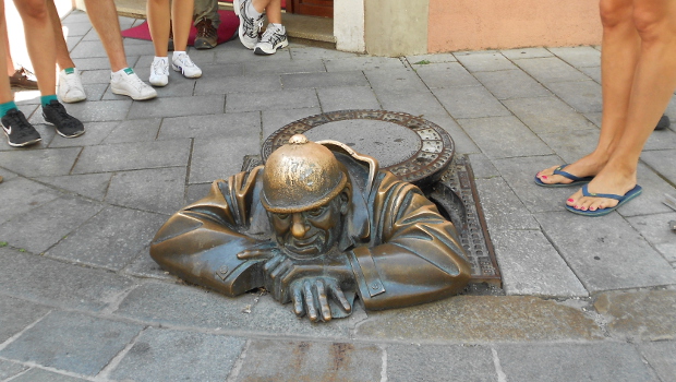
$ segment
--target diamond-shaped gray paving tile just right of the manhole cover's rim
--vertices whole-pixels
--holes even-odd
[[[490,158],[552,154],[550,147],[515,117],[461,119],[458,123]]]

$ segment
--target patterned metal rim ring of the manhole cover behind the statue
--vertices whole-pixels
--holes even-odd
[[[274,150],[279,148],[294,134],[306,134],[310,130],[336,121],[365,120],[389,122],[393,129],[405,128],[412,131],[419,140],[418,150],[403,160],[383,167],[399,179],[412,183],[435,181],[450,166],[455,153],[455,144],[446,130],[423,118],[406,112],[386,110],[338,110],[310,116],[291,122],[270,134],[261,150],[263,163]],[[367,127],[367,123],[364,123]],[[383,123],[378,124],[383,126]],[[369,134],[369,132],[364,132]],[[393,130],[393,133],[397,133]],[[400,131],[399,133],[402,133]],[[408,133],[408,131],[406,131]],[[333,138],[324,138],[333,139]],[[367,152],[362,154],[371,155]],[[379,160],[379,158],[376,157]]]

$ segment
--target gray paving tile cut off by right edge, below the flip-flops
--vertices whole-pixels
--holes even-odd
[[[676,220],[676,212],[627,218],[633,229],[662,253],[666,261],[673,263],[676,261],[676,240],[674,231],[668,227],[669,220]]]

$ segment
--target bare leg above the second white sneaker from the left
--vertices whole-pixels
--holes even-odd
[[[96,29],[98,38],[100,38],[104,49],[108,53],[110,70],[117,72],[128,68],[122,35],[120,34],[118,10],[113,0],[85,0],[85,7],[92,26]]]

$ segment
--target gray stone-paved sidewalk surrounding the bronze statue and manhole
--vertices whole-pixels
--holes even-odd
[[[202,79],[172,72],[157,99],[132,102],[110,92],[86,14],[63,24],[88,95],[67,109],[87,132],[55,136],[39,94],[16,93],[43,142],[0,142],[0,381],[676,381],[676,212],[662,203],[676,194],[675,128],[645,146],[643,194],[606,217],[566,212],[575,189],[533,183],[595,144],[597,49],[257,57],[234,40],[190,51]],[[152,44],[125,49],[147,80]],[[312,324],[149,259],[161,224],[270,133],[370,108],[422,115],[469,154],[503,295]]]

